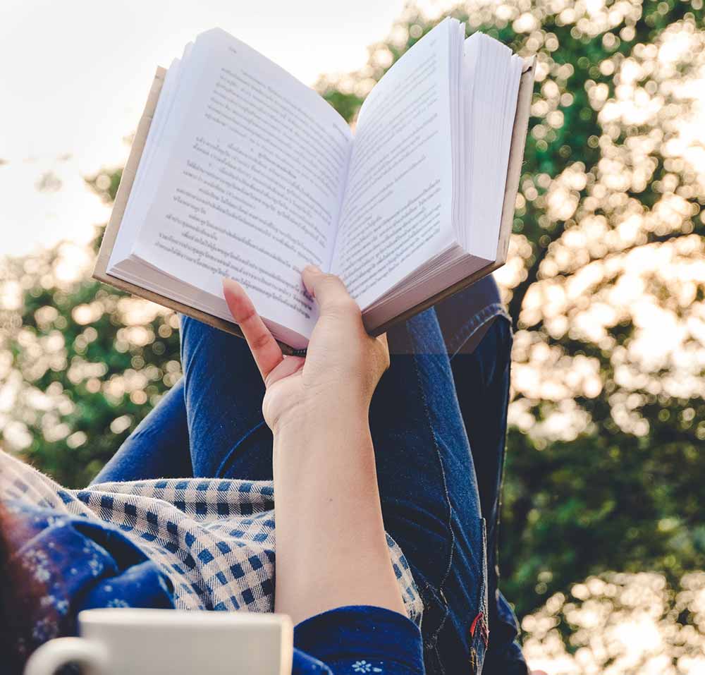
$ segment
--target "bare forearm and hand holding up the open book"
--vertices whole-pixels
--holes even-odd
[[[245,291],[224,283],[274,433],[276,611],[295,622],[369,604],[405,614],[386,544],[367,415],[389,356],[335,276],[307,268],[321,317],[307,357],[283,357]]]

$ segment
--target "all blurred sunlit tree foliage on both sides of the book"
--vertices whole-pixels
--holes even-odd
[[[702,635],[696,610],[674,608],[705,561],[703,2],[473,0],[445,13],[538,58],[497,274],[515,327],[506,595],[520,614],[553,612],[577,649],[570,589],[651,571],[672,590],[663,620]],[[321,95],[354,123],[437,20],[407,6],[360,71],[321,78]],[[111,199],[118,178],[92,184]],[[81,485],[178,379],[177,324],[92,281],[62,284],[61,257],[13,263],[0,375],[16,393],[0,425],[36,466]]]

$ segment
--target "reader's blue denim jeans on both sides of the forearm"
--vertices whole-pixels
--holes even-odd
[[[491,277],[479,284],[496,296]],[[483,662],[489,674],[527,672],[496,566],[512,334],[496,303],[472,301],[479,284],[388,331],[391,366],[369,413],[384,525],[424,600],[429,675]],[[264,384],[245,341],[182,317],[181,359],[183,378],[95,481],[271,480]]]

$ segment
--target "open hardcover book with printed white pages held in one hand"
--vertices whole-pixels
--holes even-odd
[[[355,128],[219,28],[159,68],[94,276],[238,333],[236,279],[275,338],[317,320],[301,270],[338,274],[383,332],[505,261],[533,61],[447,18],[364,101]]]

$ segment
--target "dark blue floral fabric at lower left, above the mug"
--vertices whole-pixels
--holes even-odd
[[[83,609],[173,607],[171,580],[121,533],[16,500],[3,506],[20,581],[34,591],[18,594],[11,626],[23,657],[47,640],[75,635]]]

